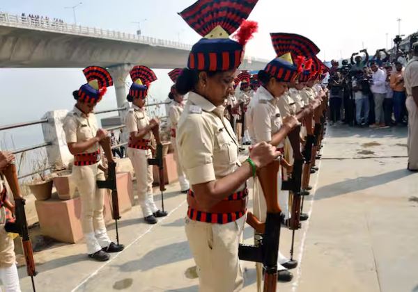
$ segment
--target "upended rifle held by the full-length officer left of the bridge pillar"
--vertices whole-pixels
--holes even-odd
[[[108,188],[111,190],[111,216],[115,220],[116,242],[119,244],[118,220],[121,219],[121,215],[119,213],[118,189],[116,187],[116,162],[111,153],[110,137],[106,137],[100,141],[100,145],[107,158],[107,179],[105,181],[96,181],[96,184],[98,188]]]

